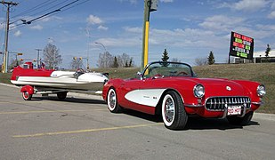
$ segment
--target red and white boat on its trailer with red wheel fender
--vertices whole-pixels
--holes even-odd
[[[36,93],[57,93],[61,100],[74,90],[101,93],[108,80],[107,73],[85,72],[81,68],[76,72],[33,68],[32,62],[13,68],[11,77],[11,83],[21,87],[24,100],[30,100]]]

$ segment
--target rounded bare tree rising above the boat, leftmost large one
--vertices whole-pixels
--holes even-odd
[[[54,44],[46,44],[43,51],[44,63],[48,68],[55,68],[61,64],[61,54]]]

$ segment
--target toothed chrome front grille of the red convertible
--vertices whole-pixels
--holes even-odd
[[[246,106],[250,108],[251,100],[248,97],[210,97],[206,100],[206,109],[224,111],[226,106]]]

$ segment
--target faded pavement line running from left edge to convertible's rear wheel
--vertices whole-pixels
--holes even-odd
[[[20,112],[0,112],[0,115],[12,115],[12,114],[31,114],[31,113],[54,113],[54,112],[86,112],[86,111],[101,111],[107,109],[85,109],[85,110],[32,110],[32,111],[20,111]]]

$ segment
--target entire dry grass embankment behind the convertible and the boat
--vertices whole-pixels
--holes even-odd
[[[222,64],[194,67],[198,77],[246,79],[265,85],[264,105],[257,112],[275,114],[275,63]],[[135,77],[140,68],[93,68],[95,72],[108,72],[109,78]],[[11,74],[0,74],[0,83],[11,84]]]

